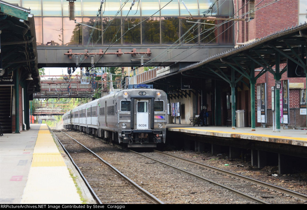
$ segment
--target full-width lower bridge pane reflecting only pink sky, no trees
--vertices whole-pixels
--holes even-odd
[[[43,18],[43,39],[45,45],[62,45],[62,18]]]

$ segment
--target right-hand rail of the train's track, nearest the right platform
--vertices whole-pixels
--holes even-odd
[[[154,150],[154,151],[157,152],[157,153],[169,156],[171,158],[175,158],[177,160],[181,160],[181,161],[184,161],[184,162],[187,162],[187,163],[191,163],[191,164],[194,164],[196,166],[204,167],[206,169],[210,169],[210,170],[222,173],[222,174],[226,174],[227,176],[231,176],[231,177],[234,177],[234,178],[237,178],[237,179],[241,179],[243,181],[247,181],[247,182],[251,182],[251,183],[256,184],[256,185],[263,186],[263,187],[268,188],[272,191],[278,191],[278,192],[290,195],[292,197],[295,197],[297,199],[307,201],[307,195],[295,192],[295,191],[290,190],[290,189],[282,188],[282,187],[279,187],[279,186],[276,186],[276,185],[272,185],[272,184],[269,184],[269,183],[266,183],[266,182],[263,182],[263,181],[259,181],[259,180],[253,179],[253,178],[249,178],[249,177],[246,177],[246,176],[243,176],[243,175],[240,175],[240,174],[236,174],[236,173],[233,173],[233,172],[230,172],[230,171],[227,171],[227,170],[219,169],[219,168],[216,168],[214,166],[209,166],[209,165],[206,165],[206,164],[203,164],[203,163],[200,163],[200,162],[196,162],[196,161],[193,161],[193,160],[189,160],[189,159],[186,159],[186,158],[181,158],[181,157],[176,156],[176,155],[168,154],[168,153],[157,151],[157,150]]]

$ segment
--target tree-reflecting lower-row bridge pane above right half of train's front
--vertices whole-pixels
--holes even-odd
[[[142,29],[143,45],[160,44],[160,17],[150,17],[142,23]]]

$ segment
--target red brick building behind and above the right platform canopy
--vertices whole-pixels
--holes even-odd
[[[299,25],[305,22],[306,19],[306,1],[298,0],[282,0],[274,2],[268,0],[255,0],[255,1],[234,1],[235,13],[240,18],[245,18],[247,21],[237,21],[235,24],[235,45],[236,47],[243,44],[250,43],[251,41],[258,40],[268,34],[281,29]],[[255,13],[244,15],[251,8],[256,9]],[[290,9],[291,8],[291,9]],[[258,9],[258,10],[257,10]],[[280,69],[283,69],[286,64],[281,64]],[[275,66],[273,67],[275,69]],[[256,70],[255,75],[258,74]],[[289,126],[291,128],[306,128],[306,115],[300,115],[300,90],[306,89],[306,77],[302,78],[288,78],[287,72],[282,74],[281,80],[289,79],[289,97],[290,97],[290,120],[289,124],[281,124],[282,126]],[[255,102],[257,105],[257,84],[266,83],[266,127],[272,126],[272,100],[271,100],[271,87],[275,86],[275,79],[273,74],[266,72],[257,79],[255,86]],[[250,109],[250,91],[247,86],[243,86],[243,90],[238,88],[238,101],[237,109]],[[256,108],[257,110],[257,108]],[[228,116],[231,113],[228,111]],[[256,126],[261,126],[257,123],[256,111]],[[249,124],[251,124],[251,116],[249,111]]]

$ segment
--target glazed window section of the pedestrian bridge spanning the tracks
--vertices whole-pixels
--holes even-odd
[[[213,31],[209,29],[223,21],[201,20],[200,22],[207,24],[196,24],[190,29],[193,23],[177,18],[190,16],[189,13],[193,17],[202,17],[214,2],[213,9],[206,17],[231,17],[233,1],[230,0],[186,0],[185,5],[181,0],[139,0],[135,1],[131,10],[132,0],[105,0],[101,18],[100,15],[97,18],[99,0],[76,0],[74,1],[76,22],[104,30],[94,30],[92,36],[90,36],[91,28],[69,20],[69,2],[66,0],[7,1],[31,10],[35,19],[38,46],[170,45],[180,37],[182,43],[195,45],[208,43],[229,45],[234,41],[232,25],[234,21],[225,23]],[[121,6],[122,10],[120,10]],[[120,12],[116,15],[119,10]]]

